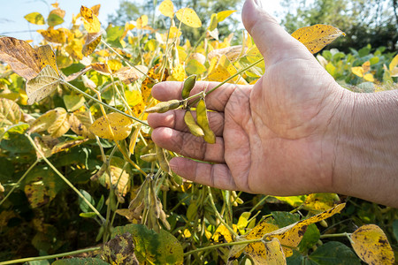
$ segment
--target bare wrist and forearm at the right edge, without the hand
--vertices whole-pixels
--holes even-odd
[[[398,90],[348,92],[339,109],[334,188],[398,208]]]

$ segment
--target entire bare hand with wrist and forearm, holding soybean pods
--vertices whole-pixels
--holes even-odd
[[[398,208],[398,91],[356,94],[339,86],[255,0],[242,11],[262,52],[254,86],[226,84],[206,96],[215,144],[188,132],[185,110],[149,114],[152,139],[185,157],[170,161],[183,178],[269,195],[341,193]],[[197,82],[191,95],[217,83]],[[181,99],[182,83],[152,88]]]

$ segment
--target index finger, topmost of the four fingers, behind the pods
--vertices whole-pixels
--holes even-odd
[[[197,81],[195,87],[191,90],[190,95],[195,95],[201,91],[209,91],[210,89],[216,87],[218,82],[207,82],[207,81]],[[172,99],[182,100],[181,91],[183,87],[183,82],[176,81],[165,81],[158,83],[152,87],[152,96],[158,101],[166,102]],[[234,84],[224,84],[218,87],[212,93],[206,96],[206,106],[209,110],[224,111],[226,107],[226,102],[228,102],[229,97],[233,94],[233,91],[239,89],[239,85]]]

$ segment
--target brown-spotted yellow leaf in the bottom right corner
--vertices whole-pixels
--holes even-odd
[[[386,234],[375,224],[366,224],[351,234],[352,247],[368,264],[394,264],[394,252]]]

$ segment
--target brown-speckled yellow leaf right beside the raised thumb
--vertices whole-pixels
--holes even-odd
[[[292,36],[302,42],[311,53],[317,53],[336,38],[345,35],[340,29],[333,26],[317,24],[297,29]]]

